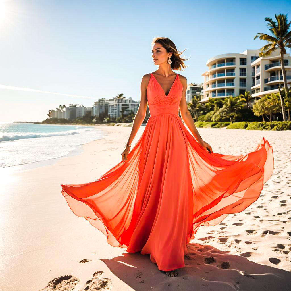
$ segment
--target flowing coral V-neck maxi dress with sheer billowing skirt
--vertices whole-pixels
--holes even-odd
[[[184,267],[186,244],[255,202],[274,170],[265,138],[246,155],[209,153],[178,116],[178,74],[168,96],[151,74],[150,118],[127,161],[93,182],[61,185],[70,209],[129,253],[150,254],[158,269]]]

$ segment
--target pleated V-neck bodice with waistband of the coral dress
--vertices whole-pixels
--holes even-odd
[[[178,74],[167,96],[155,76],[151,73],[147,88],[150,116],[155,116],[161,113],[178,115],[182,91],[183,85]]]

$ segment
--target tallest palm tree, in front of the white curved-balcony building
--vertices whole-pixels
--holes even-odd
[[[285,47],[289,47],[289,48],[291,47],[291,31],[289,31],[291,21],[288,23],[287,14],[286,15],[279,14],[278,16],[275,14],[275,18],[277,19],[277,23],[274,22],[271,17],[265,17],[265,20],[269,22],[267,26],[269,27],[269,31],[272,32],[273,36],[270,36],[265,33],[258,33],[254,37],[254,39],[259,37],[260,40],[267,40],[269,42],[267,45],[264,45],[262,48],[260,48],[260,51],[261,51],[259,54],[260,57],[270,56],[272,52],[274,52],[277,48],[280,48],[281,69],[282,69],[282,74],[283,74],[284,87],[285,87],[285,90],[288,92],[287,78],[286,78],[285,64],[284,64],[284,54],[286,54]],[[282,107],[282,113],[283,113],[283,120],[287,121],[287,116],[285,112],[285,107],[284,107],[281,91],[280,91],[280,100],[281,100],[281,107]]]

